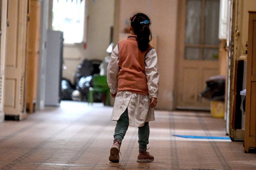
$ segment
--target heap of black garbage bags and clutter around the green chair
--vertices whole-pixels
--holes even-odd
[[[74,76],[74,84],[70,80],[62,78],[61,81],[61,100],[87,101],[89,95],[89,88],[93,87],[93,75],[107,74],[107,66],[110,57],[105,57],[101,60],[83,60],[76,69]],[[102,94],[94,93],[93,100],[101,102]]]

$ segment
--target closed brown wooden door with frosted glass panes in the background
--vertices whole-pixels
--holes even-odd
[[[219,75],[218,0],[179,1],[176,108],[207,109],[205,80]]]

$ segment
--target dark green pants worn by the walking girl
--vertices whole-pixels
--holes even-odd
[[[121,141],[128,129],[129,126],[129,117],[128,117],[128,109],[123,112],[120,116],[119,120],[117,121],[114,138],[119,138]],[[145,125],[142,127],[138,127],[138,135],[139,135],[139,148],[146,149],[148,144],[148,137],[149,137],[149,125],[148,122],[145,122]]]

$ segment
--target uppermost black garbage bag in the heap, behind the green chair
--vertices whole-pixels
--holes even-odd
[[[80,81],[81,77],[87,77],[92,75],[94,71],[93,64],[85,59],[82,63],[77,66],[75,77],[74,77],[74,85],[76,86],[77,83]]]

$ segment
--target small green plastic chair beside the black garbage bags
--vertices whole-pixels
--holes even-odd
[[[93,86],[89,88],[88,104],[93,104],[93,93],[106,93],[106,103],[110,103],[110,89],[107,83],[106,75],[93,75]]]

